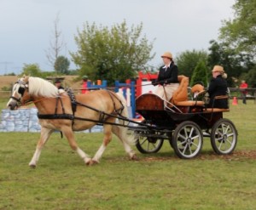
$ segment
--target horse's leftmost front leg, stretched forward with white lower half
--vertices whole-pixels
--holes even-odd
[[[41,154],[41,151],[44,148],[45,143],[47,142],[50,134],[53,133],[53,131],[54,130],[49,129],[49,128],[44,128],[44,127],[41,128],[41,135],[40,135],[40,139],[38,140],[37,148],[34,152],[34,155],[32,156],[31,162],[29,162],[29,164],[28,164],[30,167],[37,166],[37,162],[38,162],[39,156]]]

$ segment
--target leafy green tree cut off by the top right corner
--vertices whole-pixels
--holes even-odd
[[[220,39],[236,52],[247,52],[255,59],[256,0],[236,0],[234,20],[225,20],[220,28]]]

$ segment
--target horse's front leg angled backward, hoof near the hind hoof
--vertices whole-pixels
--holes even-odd
[[[83,150],[81,150],[74,138],[73,130],[70,127],[62,128],[62,133],[66,136],[70,147],[75,150],[79,156],[84,160],[86,165],[91,165],[91,158]]]

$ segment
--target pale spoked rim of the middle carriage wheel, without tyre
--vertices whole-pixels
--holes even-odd
[[[186,125],[177,133],[177,151],[185,157],[191,158],[201,150],[202,135],[201,131],[194,125]]]

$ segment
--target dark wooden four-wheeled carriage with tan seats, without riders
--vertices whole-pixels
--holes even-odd
[[[223,112],[230,110],[206,108],[207,92],[203,86],[196,84],[189,89],[189,78],[184,76],[178,76],[178,81],[180,86],[171,101],[155,94],[143,94],[137,98],[137,113],[143,116],[141,124],[131,128],[137,135],[137,150],[157,152],[167,139],[177,156],[189,159],[201,152],[203,138],[207,137],[217,154],[230,154],[237,143],[235,125],[223,118]],[[192,96],[190,100],[189,94]],[[217,99],[229,98],[224,95],[214,100]]]

